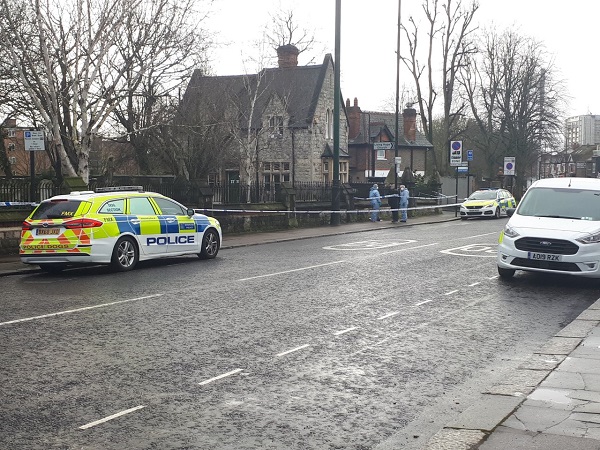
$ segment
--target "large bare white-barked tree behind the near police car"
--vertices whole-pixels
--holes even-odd
[[[33,0],[15,9],[12,2],[0,0],[5,16],[0,44],[9,52],[24,95],[50,136],[60,174],[87,182],[92,143],[122,102],[131,100],[129,93],[152,85],[148,80],[158,72],[164,76],[173,70],[170,75],[175,78],[181,65],[173,46],[180,43],[176,28],[185,15],[179,4]],[[28,21],[20,20],[23,15]],[[160,46],[161,40],[166,40],[166,48]],[[160,95],[161,90],[151,94]],[[131,115],[123,117],[130,125]]]

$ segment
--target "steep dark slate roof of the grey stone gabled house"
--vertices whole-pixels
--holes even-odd
[[[330,64],[333,66],[333,59],[327,54],[320,65],[269,68],[250,75],[205,76],[201,70],[196,70],[184,94],[183,107],[198,108],[202,103],[203,108],[208,106],[213,110],[215,117],[224,117],[227,108],[235,105],[234,109],[240,115],[240,127],[246,128],[251,96],[258,92],[252,128],[260,127],[261,116],[273,96],[287,103],[290,123],[286,125],[306,128],[313,122]]]

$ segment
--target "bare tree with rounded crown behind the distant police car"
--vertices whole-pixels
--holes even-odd
[[[461,83],[477,131],[470,139],[493,176],[504,156],[517,158],[517,194],[544,148],[558,145],[564,98],[552,61],[539,42],[508,30],[483,35],[482,52]]]

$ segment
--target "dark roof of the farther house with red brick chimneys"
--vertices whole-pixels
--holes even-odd
[[[377,137],[382,127],[389,133],[390,140],[394,140],[396,132],[395,113],[362,111],[360,120],[360,133],[356,138],[350,141],[350,144],[370,144]],[[369,122],[371,126],[369,127]],[[366,139],[367,134],[370,134],[370,139]],[[398,115],[398,147],[403,148],[433,148],[433,144],[427,140],[425,135],[419,130],[416,131],[416,140],[408,141],[404,137],[404,119],[402,114]]]

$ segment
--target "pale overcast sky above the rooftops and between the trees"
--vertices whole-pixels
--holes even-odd
[[[463,0],[467,3],[469,0]],[[401,0],[402,22],[423,21],[422,0]],[[293,10],[300,27],[319,41],[311,57],[319,64],[335,54],[335,0],[216,0],[206,25],[216,32],[212,54],[216,75],[256,73],[248,61],[268,26],[270,13]],[[344,100],[358,98],[363,110],[393,110],[396,95],[398,0],[342,0],[340,68]],[[600,0],[480,0],[475,22],[481,27],[513,27],[546,46],[558,77],[572,97],[566,116],[600,115]],[[406,44],[401,38],[400,52]],[[267,48],[268,52],[274,53]],[[309,58],[300,55],[299,64]],[[271,64],[274,66],[276,63]],[[400,68],[400,84],[410,85]],[[390,109],[391,108],[391,109]]]

